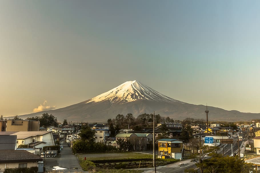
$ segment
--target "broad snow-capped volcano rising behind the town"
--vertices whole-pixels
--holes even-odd
[[[206,119],[206,106],[193,105],[167,97],[152,88],[137,81],[127,81],[105,93],[89,100],[70,105],[64,108],[20,115],[27,117],[41,116],[43,113],[57,116],[59,122],[63,119],[79,122],[106,122],[118,114],[132,113],[135,117],[142,113],[160,114],[174,120],[183,120],[187,117]],[[242,113],[227,111],[208,106],[209,121],[242,121],[259,117],[260,113]],[[250,117],[250,118],[249,118]],[[248,119],[249,118],[249,119]]]

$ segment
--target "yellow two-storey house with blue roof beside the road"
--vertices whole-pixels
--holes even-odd
[[[158,155],[172,157],[172,153],[182,153],[183,141],[179,139],[159,139]]]

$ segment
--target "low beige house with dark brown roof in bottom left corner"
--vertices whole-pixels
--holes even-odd
[[[26,150],[0,150],[0,172],[5,168],[30,168],[38,166],[43,158]]]

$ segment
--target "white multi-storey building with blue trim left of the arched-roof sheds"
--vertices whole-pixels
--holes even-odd
[[[102,124],[96,124],[92,128],[95,131],[95,142],[103,142],[105,143],[106,139],[109,138],[109,127]]]

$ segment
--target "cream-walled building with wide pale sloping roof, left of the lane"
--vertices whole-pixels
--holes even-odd
[[[52,132],[48,131],[30,131],[17,132],[12,135],[17,135],[16,147],[19,145],[29,145],[33,148],[42,148],[43,146],[55,145]]]

